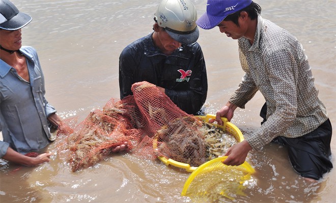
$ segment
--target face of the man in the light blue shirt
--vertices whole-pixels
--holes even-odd
[[[9,31],[0,29],[0,44],[9,50],[18,50],[22,46],[21,29]]]

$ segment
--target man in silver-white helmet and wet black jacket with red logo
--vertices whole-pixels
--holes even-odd
[[[186,113],[198,114],[208,82],[202,49],[196,42],[196,9],[189,0],[163,0],[154,20],[154,32],[129,44],[120,55],[120,98],[132,94],[132,84],[147,81]]]

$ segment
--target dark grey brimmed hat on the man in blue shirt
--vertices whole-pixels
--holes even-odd
[[[0,29],[19,30],[32,21],[32,17],[20,12],[8,0],[0,0]]]

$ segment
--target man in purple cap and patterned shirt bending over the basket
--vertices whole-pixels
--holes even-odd
[[[330,141],[332,128],[302,45],[286,30],[260,16],[252,1],[208,0],[199,27],[218,26],[221,33],[238,39],[239,59],[245,71],[242,82],[226,106],[216,113],[216,121],[230,121],[237,107],[259,90],[266,103],[259,129],[229,148],[223,162],[242,164],[248,151],[274,141],[285,144],[295,171],[308,180],[318,180],[332,168]]]

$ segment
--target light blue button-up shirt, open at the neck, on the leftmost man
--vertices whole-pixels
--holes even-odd
[[[44,76],[35,48],[22,46],[30,81],[0,59],[0,158],[8,147],[21,154],[38,151],[49,144],[51,134],[47,117],[56,112],[44,98]]]

